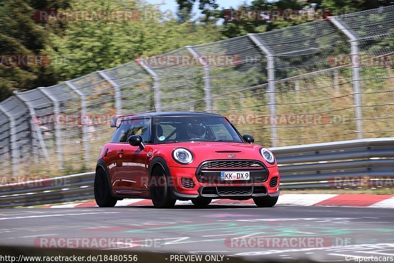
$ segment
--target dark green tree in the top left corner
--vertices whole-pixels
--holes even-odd
[[[0,3],[0,100],[16,89],[29,90],[56,83],[50,59],[44,52],[50,45],[53,25],[35,21],[34,13],[60,6],[66,7],[67,0],[5,0]]]

